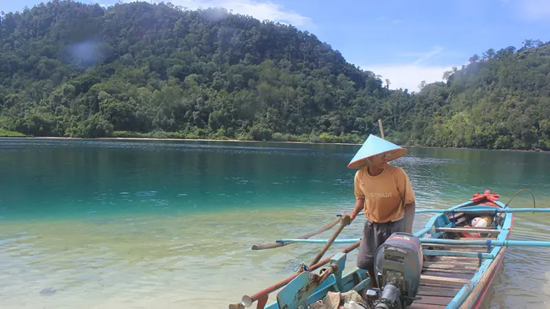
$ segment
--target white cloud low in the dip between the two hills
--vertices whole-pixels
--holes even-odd
[[[408,89],[409,92],[419,91],[419,84],[443,81],[443,73],[450,71],[453,65],[430,65],[429,60],[443,52],[443,47],[436,46],[428,52],[408,52],[397,56],[413,58],[405,64],[375,64],[361,65],[363,69],[373,71],[376,75],[390,80],[390,89]],[[455,65],[456,67],[461,67]],[[384,81],[385,82],[385,81]]]

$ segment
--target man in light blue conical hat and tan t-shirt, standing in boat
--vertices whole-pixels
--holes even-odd
[[[378,247],[392,233],[412,233],[415,192],[406,172],[388,163],[406,153],[406,149],[370,135],[348,164],[348,168],[360,168],[355,172],[355,207],[350,218],[355,219],[362,209],[366,216],[357,266],[369,272],[374,287]]]

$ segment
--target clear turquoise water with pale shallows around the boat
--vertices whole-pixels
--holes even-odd
[[[250,247],[350,211],[346,165],[358,148],[0,139],[0,308],[227,308],[314,258],[313,244]],[[408,172],[418,208],[485,189],[507,202],[522,188],[550,207],[547,153],[409,148],[395,165]],[[531,196],[511,206],[532,207]],[[428,218],[417,215],[414,229]],[[512,238],[550,240],[548,219],[516,216]],[[548,253],[510,248],[485,308],[547,308]]]

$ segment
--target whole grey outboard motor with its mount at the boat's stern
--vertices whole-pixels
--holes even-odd
[[[376,251],[374,268],[379,288],[364,295],[369,308],[404,309],[412,304],[420,284],[423,255],[419,238],[393,233]]]

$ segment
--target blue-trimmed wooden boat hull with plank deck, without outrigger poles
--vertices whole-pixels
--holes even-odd
[[[483,213],[465,211],[479,207],[490,210],[485,216]],[[491,242],[508,240],[514,220],[514,214],[511,212],[493,210],[507,208],[507,205],[498,201],[498,194],[491,194],[489,191],[484,194],[474,194],[474,198],[469,201],[446,209],[443,213],[435,214],[423,229],[415,232],[414,234],[423,240],[424,262],[417,293],[421,299],[415,300],[407,308],[480,308],[494,278],[503,266],[506,253],[504,245],[496,246]],[[483,209],[481,210],[485,211]],[[491,225],[482,228],[470,227],[472,219],[476,217],[490,221]],[[456,240],[477,241],[474,242],[475,245],[464,245],[464,242],[456,244]],[[501,243],[498,242],[498,244]],[[305,292],[303,289],[295,288],[293,284],[287,284],[279,290],[277,301],[267,306],[260,304],[261,306],[256,308],[296,309],[299,306],[295,301],[298,296],[300,304],[304,304],[303,299],[305,299],[305,304],[309,306],[316,301],[322,301],[329,292],[345,293],[355,290],[360,294],[364,293],[372,287],[371,279],[364,270],[358,268],[344,272],[342,268],[347,253],[338,253],[331,258],[328,262],[330,266],[340,266],[334,273],[326,276],[323,282],[316,282],[316,288],[307,289]]]

